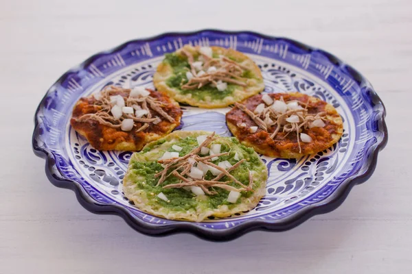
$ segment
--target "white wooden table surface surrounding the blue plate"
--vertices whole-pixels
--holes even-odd
[[[0,273],[412,273],[412,2],[200,2],[1,1]],[[340,208],[225,243],[152,238],[47,181],[31,149],[33,115],[62,73],[126,40],[202,28],[295,38],[371,81],[389,143]]]

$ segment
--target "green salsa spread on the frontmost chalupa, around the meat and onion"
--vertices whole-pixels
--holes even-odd
[[[256,176],[266,176],[266,167],[261,162],[259,156],[253,149],[249,147],[244,147],[236,138],[218,138],[211,142],[211,144],[221,144],[221,153],[228,152],[229,155],[222,155],[218,160],[211,161],[214,164],[218,162],[229,161],[232,165],[236,164],[238,160],[235,160],[235,154],[238,153],[239,158],[245,158],[247,161],[242,162],[238,168],[230,172],[233,177],[236,177],[242,184],[249,184],[249,170],[256,171]],[[163,188],[163,186],[168,184],[178,184],[179,179],[170,175],[165,179],[165,181],[160,185],[156,186],[159,182],[159,177],[155,177],[156,173],[163,171],[163,166],[157,162],[157,159],[165,153],[165,151],[176,152],[172,149],[172,145],[178,145],[182,148],[179,151],[179,156],[186,155],[190,153],[194,148],[198,147],[198,142],[195,137],[181,138],[172,143],[165,144],[165,139],[160,139],[155,142],[150,143],[143,151],[135,153],[129,163],[129,171],[126,174],[125,180],[128,182],[133,182],[135,187],[139,190],[143,190],[146,193],[149,205],[158,205],[164,208],[170,208],[176,211],[187,211],[195,210],[198,207],[201,208],[218,208],[218,206],[226,205],[228,208],[233,208],[236,204],[240,203],[241,199],[238,199],[236,203],[230,203],[227,201],[229,191],[218,188],[211,187],[209,190],[214,190],[217,192],[215,195],[205,195],[203,199],[200,199],[190,190],[185,188]],[[202,155],[201,155],[202,156]],[[172,171],[169,171],[169,173]],[[205,175],[206,180],[214,179],[216,175],[213,175],[210,171],[207,171]],[[256,179],[256,178],[255,178]],[[266,180],[266,179],[265,179]],[[222,177],[219,181],[227,182],[231,181],[227,176]],[[257,180],[253,184],[253,189],[260,186],[262,180]],[[240,186],[235,182],[230,182],[229,186],[239,188]],[[157,195],[163,192],[163,194],[168,197],[168,201],[163,201],[159,199]],[[253,191],[242,191],[241,197],[250,197]]]

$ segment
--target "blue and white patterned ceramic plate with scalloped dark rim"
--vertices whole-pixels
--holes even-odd
[[[185,44],[232,47],[262,69],[264,92],[299,91],[331,103],[344,121],[339,143],[298,160],[262,156],[269,171],[266,196],[249,212],[201,223],[170,221],[141,212],[122,195],[131,152],[96,151],[70,127],[73,105],[104,86],[153,88],[152,76],[164,53]],[[229,108],[206,110],[182,105],[176,130],[206,129],[230,136]],[[162,34],[126,42],[93,55],[49,89],[36,111],[33,148],[46,159],[46,173],[58,187],[71,188],[91,212],[119,214],[150,235],[192,232],[229,240],[253,229],[281,231],[314,214],[334,210],[355,184],[364,182],[387,142],[385,108],[371,84],[330,53],[286,38],[253,32],[203,30]]]

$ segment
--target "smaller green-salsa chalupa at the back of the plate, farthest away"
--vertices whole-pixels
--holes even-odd
[[[262,73],[247,55],[190,45],[165,55],[153,83],[176,101],[201,108],[224,108],[264,89]]]

